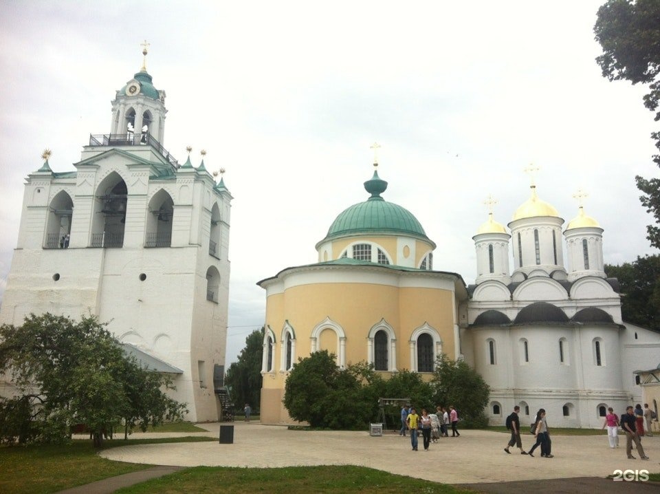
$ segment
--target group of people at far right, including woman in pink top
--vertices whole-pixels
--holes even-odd
[[[610,448],[619,447],[619,427],[621,427],[626,434],[626,455],[628,459],[635,460],[635,456],[632,455],[632,444],[635,444],[639,458],[648,460],[648,456],[644,453],[641,445],[642,436],[653,436],[651,422],[654,420],[654,412],[648,407],[648,403],[644,404],[644,410],[641,409],[639,403],[634,409],[630,405],[626,408],[626,413],[621,415],[620,420],[612,407],[609,407],[607,412],[602,429],[607,427],[607,439]],[[644,422],[646,422],[646,431],[644,430]]]

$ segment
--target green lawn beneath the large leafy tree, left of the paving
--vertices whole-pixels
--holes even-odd
[[[104,449],[133,444],[215,441],[214,438],[114,439]],[[0,493],[53,493],[114,475],[147,469],[151,465],[112,462],[100,458],[89,440],[70,446],[0,447]]]

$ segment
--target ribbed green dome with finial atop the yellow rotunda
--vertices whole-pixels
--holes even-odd
[[[412,235],[429,240],[410,211],[380,197],[387,189],[387,182],[378,177],[377,171],[371,180],[364,182],[364,189],[371,193],[371,197],[342,211],[331,224],[324,241],[365,233]]]

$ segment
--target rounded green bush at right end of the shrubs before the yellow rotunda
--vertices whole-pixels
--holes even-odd
[[[463,427],[488,425],[483,410],[488,405],[490,387],[465,361],[452,361],[444,354],[439,356],[431,383],[434,401],[445,407],[454,405]]]

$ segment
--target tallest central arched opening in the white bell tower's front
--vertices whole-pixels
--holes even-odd
[[[90,247],[122,247],[126,224],[128,189],[121,176],[112,172],[96,189]]]

